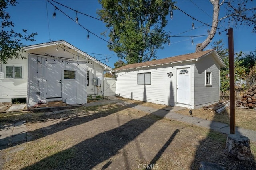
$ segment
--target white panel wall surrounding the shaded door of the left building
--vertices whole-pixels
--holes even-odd
[[[38,62],[38,61],[40,62]],[[67,104],[81,104],[87,102],[86,95],[86,64],[58,62],[54,59],[46,59],[35,55],[29,57],[29,78],[28,78],[28,105],[34,106],[39,101],[46,103],[47,90],[47,63],[60,63],[62,65],[62,99]],[[38,70],[38,73],[37,73]],[[76,71],[76,79],[64,79],[64,70]],[[39,83],[38,83],[39,82]],[[38,86],[39,84],[39,86]],[[40,95],[37,94],[40,92]]]

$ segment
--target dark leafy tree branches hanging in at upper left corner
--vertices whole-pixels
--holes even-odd
[[[37,33],[27,35],[27,30],[23,29],[22,33],[16,33],[14,23],[10,21],[10,14],[6,12],[9,5],[15,6],[16,0],[0,0],[0,16],[1,16],[1,40],[0,40],[0,63],[7,63],[8,59],[22,58],[26,59],[21,53],[25,52],[24,45],[21,40],[35,41],[34,36]]]

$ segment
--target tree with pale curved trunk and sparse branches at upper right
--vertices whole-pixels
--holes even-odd
[[[256,7],[246,8],[248,0],[239,0],[239,1],[227,1],[223,0],[220,3],[220,0],[210,0],[213,5],[213,17],[212,17],[212,27],[210,30],[210,34],[201,44],[196,45],[196,51],[203,51],[205,47],[210,43],[211,39],[213,39],[219,21],[228,18],[228,24],[230,21],[234,22],[234,26],[238,25],[247,25],[253,26],[252,32],[256,33]],[[226,8],[227,14],[226,16],[219,19],[220,7],[224,6]]]

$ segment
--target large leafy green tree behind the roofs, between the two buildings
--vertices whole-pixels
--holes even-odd
[[[125,59],[127,64],[157,58],[156,50],[168,41],[164,27],[172,8],[171,0],[101,0],[97,11],[106,21],[110,44],[108,47]],[[103,33],[104,35],[107,32]]]

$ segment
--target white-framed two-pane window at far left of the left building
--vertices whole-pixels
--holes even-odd
[[[22,66],[5,66],[5,78],[22,79]]]

